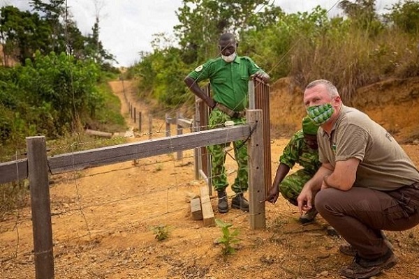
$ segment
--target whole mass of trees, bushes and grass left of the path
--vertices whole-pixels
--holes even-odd
[[[65,4],[32,0],[31,12],[0,9],[0,156],[22,149],[27,136],[53,140],[84,126],[124,125],[119,99],[101,85],[119,71],[98,39],[98,19],[82,36]]]

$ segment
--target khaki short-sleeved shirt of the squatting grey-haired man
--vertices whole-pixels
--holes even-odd
[[[342,105],[330,135],[317,134],[321,163],[358,158],[353,186],[395,190],[419,182],[419,172],[396,140],[378,123],[353,107]]]

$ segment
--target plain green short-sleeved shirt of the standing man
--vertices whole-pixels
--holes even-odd
[[[247,107],[249,77],[260,70],[247,56],[236,56],[230,63],[218,57],[196,67],[189,77],[196,82],[210,79],[212,98],[216,103],[240,112]]]

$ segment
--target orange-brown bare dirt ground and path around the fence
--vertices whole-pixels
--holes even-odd
[[[111,86],[124,98],[122,82]],[[126,90],[130,86],[124,82]],[[147,107],[135,105],[147,113]],[[127,123],[135,127],[127,111],[122,101]],[[153,130],[159,130],[159,121]],[[286,142],[272,140],[272,174]],[[419,165],[418,147],[404,148]],[[267,204],[262,231],[249,229],[248,213],[215,211],[216,218],[240,229],[237,253],[223,258],[214,244],[221,230],[190,216],[188,198],[204,185],[194,179],[192,155],[186,151],[179,161],[168,154],[52,176],[55,278],[341,278],[339,268],[352,261],[338,252],[341,239],[328,236],[321,217],[312,225],[297,223],[297,209],[284,199]],[[235,163],[228,160],[227,168],[235,169]],[[234,176],[228,176],[230,182]],[[216,209],[216,199],[212,206]],[[30,216],[25,208],[0,223],[0,278],[34,278]],[[156,225],[170,229],[168,239],[156,241],[151,230]],[[388,237],[401,260],[379,278],[419,278],[418,229],[388,232]]]

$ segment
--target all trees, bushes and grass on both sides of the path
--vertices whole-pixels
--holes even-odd
[[[45,135],[51,149],[66,142],[78,142],[76,148],[83,149],[82,143],[89,141],[84,128],[124,130],[119,99],[107,83],[116,78],[134,80],[136,95],[155,112],[183,110],[191,115],[194,96],[183,79],[219,54],[217,40],[226,31],[237,35],[239,55],[251,56],[272,83],[288,77],[292,86],[304,88],[311,80],[327,78],[348,105],[356,102],[364,86],[419,76],[417,1],[401,1],[381,15],[374,0],[336,3],[343,16],[329,17],[320,6],[286,14],[266,0],[184,0],[176,12],[180,23],[174,27],[175,40],[156,34],[153,51],[140,52],[139,62],[128,69],[112,67],[114,57],[99,39],[100,15],[91,33],[83,36],[65,0],[31,1],[31,12],[4,6],[1,161],[24,156],[28,136]],[[282,125],[293,133],[287,123]],[[418,136],[416,129],[404,140]],[[19,206],[13,197],[26,191],[24,183],[1,187],[5,202],[0,202],[0,211]]]

